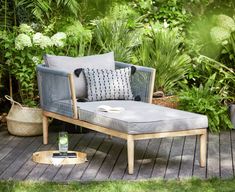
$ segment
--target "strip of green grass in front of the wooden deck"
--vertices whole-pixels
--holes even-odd
[[[0,191],[4,192],[225,192],[235,191],[235,178],[221,180],[217,178],[200,180],[148,180],[148,181],[105,181],[71,182],[68,184],[52,182],[0,181]]]

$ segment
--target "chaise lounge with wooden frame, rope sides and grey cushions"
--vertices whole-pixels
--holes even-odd
[[[125,139],[127,140],[128,173],[133,174],[135,140],[199,135],[200,166],[204,167],[207,117],[151,104],[154,69],[114,62],[113,59],[111,63],[113,62],[115,69],[134,67],[135,72],[130,77],[130,85],[135,100],[101,99],[101,101],[84,102],[86,100],[78,97],[77,77],[73,73],[76,68],[74,65],[92,68],[90,63],[95,62],[95,68],[97,66],[102,68],[100,63],[110,60],[106,58],[107,55],[108,57],[111,55],[112,60],[112,53],[83,58],[47,55],[46,65],[37,66],[40,103],[43,110],[43,143],[48,143],[49,117]],[[123,107],[125,110],[119,113],[103,112],[97,110],[101,105]]]

